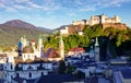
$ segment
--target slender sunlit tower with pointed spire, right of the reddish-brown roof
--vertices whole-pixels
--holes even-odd
[[[60,36],[60,42],[59,42],[59,55],[61,59],[64,60],[64,44],[63,44],[62,36]]]

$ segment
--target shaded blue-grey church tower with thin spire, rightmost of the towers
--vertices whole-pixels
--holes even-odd
[[[97,37],[96,37],[96,40],[95,40],[94,51],[95,51],[95,61],[99,62],[99,44],[98,44],[98,38]]]

